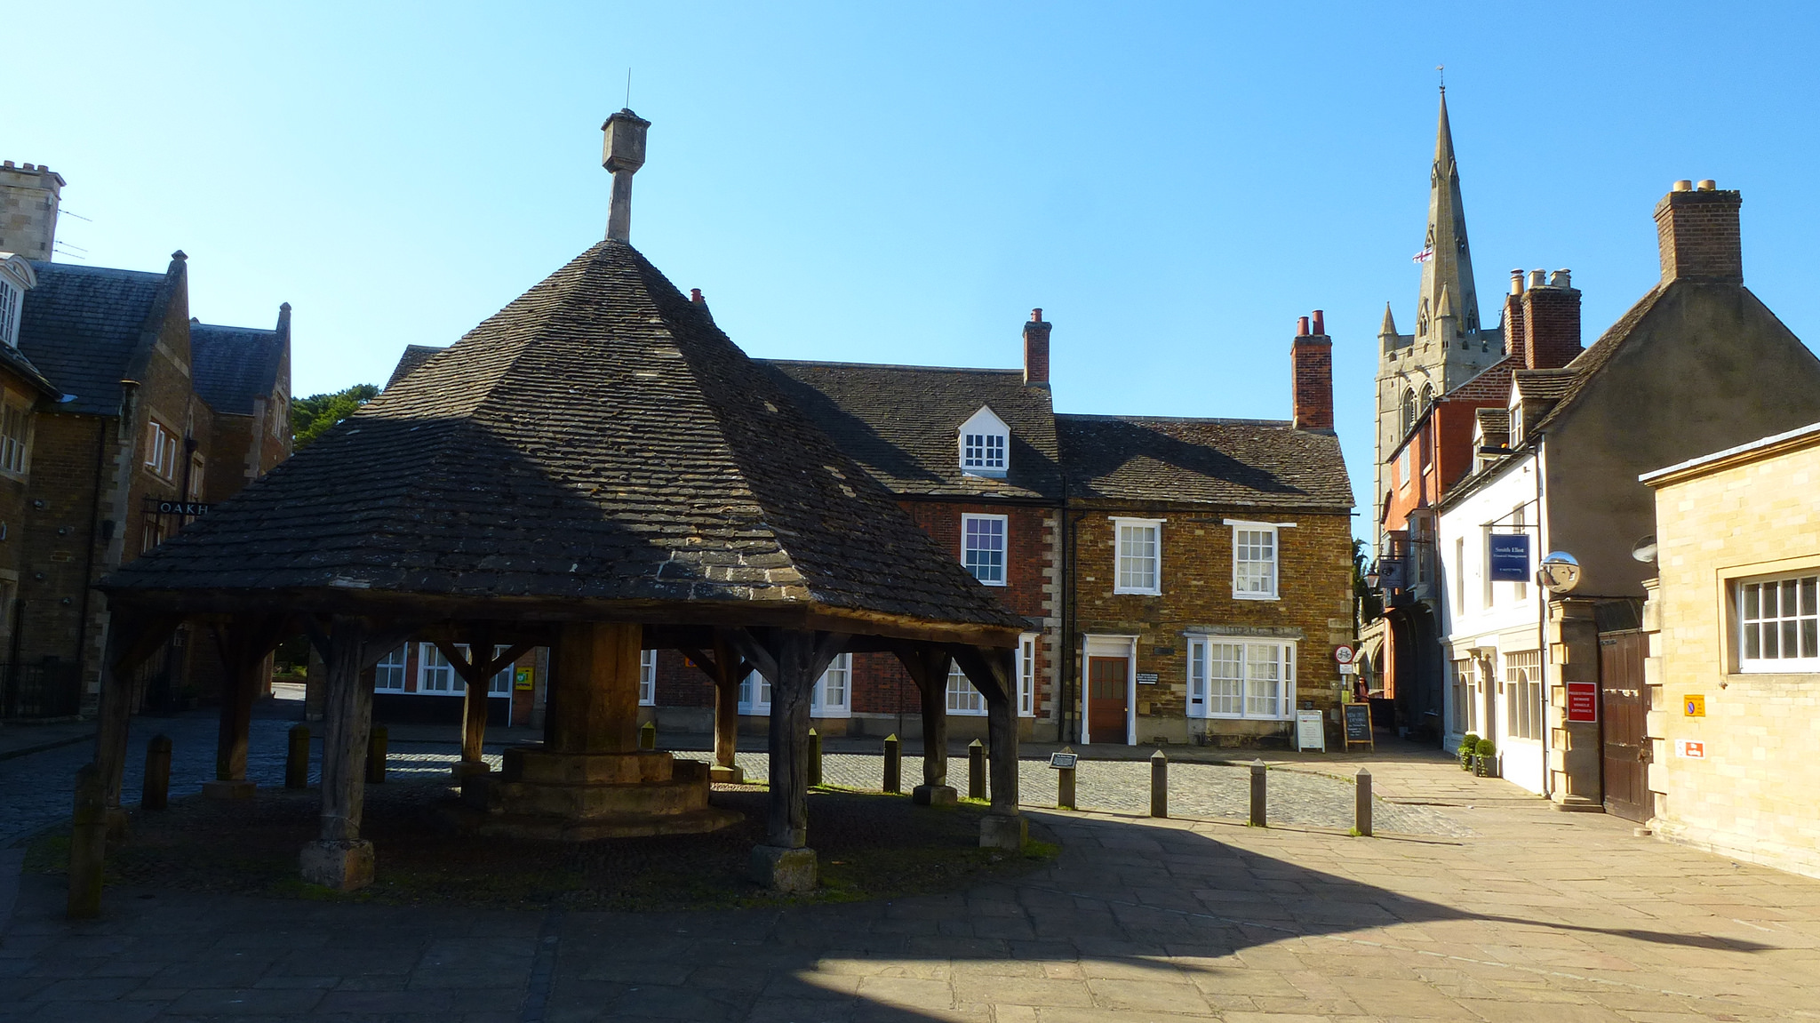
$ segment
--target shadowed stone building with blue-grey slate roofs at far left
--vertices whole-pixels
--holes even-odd
[[[7,208],[38,208],[51,175],[0,177]],[[49,253],[51,215],[9,244]],[[289,306],[271,329],[191,320],[187,264],[164,273],[33,260],[16,306],[16,348],[56,397],[31,408],[7,488],[18,512],[0,564],[7,593],[5,663],[16,715],[93,710],[107,637],[95,581],[151,550],[197,512],[224,501],[289,453]],[[7,388],[13,393],[13,388]],[[209,644],[180,632],[140,677],[153,704],[207,699],[218,684]],[[31,692],[24,692],[29,688]]]

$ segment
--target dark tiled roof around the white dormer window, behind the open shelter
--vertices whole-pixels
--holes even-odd
[[[894,493],[1061,499],[1048,388],[1023,370],[764,360],[790,399]],[[1012,430],[1005,479],[961,473],[959,428],[992,411]]]

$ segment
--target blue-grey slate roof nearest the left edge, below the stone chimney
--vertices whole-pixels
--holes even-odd
[[[162,273],[33,262],[38,286],[25,293],[18,348],[64,393],[62,411],[118,415],[140,331],[158,302]]]

